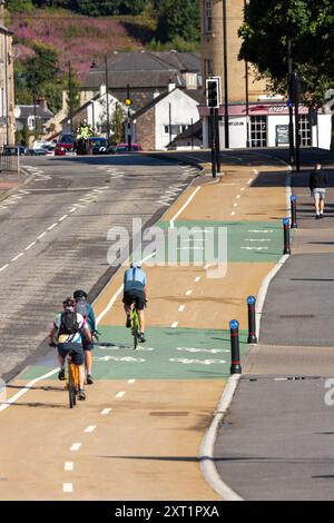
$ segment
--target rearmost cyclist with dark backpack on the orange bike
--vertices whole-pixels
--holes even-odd
[[[63,312],[59,313],[53,322],[49,336],[49,345],[57,345],[58,348],[58,361],[60,364],[58,379],[65,379],[65,359],[68,354],[71,355],[72,362],[79,366],[80,386],[78,397],[79,399],[86,399],[84,391],[85,366],[81,333],[85,334],[87,339],[91,339],[91,334],[86,319],[75,312],[75,299],[66,298],[62,303],[62,307]]]

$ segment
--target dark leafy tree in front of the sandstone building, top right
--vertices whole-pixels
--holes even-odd
[[[287,40],[303,98],[321,106],[333,86],[333,0],[250,0],[239,30],[239,59],[253,63],[278,92],[287,91]]]

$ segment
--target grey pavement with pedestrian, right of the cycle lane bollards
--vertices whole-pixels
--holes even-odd
[[[247,501],[334,495],[333,156],[326,160],[331,182],[323,220],[314,219],[308,169],[292,177],[298,209],[292,256],[269,285],[259,344],[246,352],[218,431],[217,470]]]

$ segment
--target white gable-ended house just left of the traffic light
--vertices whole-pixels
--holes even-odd
[[[180,89],[174,83],[131,116],[132,141],[144,150],[164,150],[198,120],[199,89]]]

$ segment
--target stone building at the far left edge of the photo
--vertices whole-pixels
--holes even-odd
[[[4,3],[0,0],[0,148],[16,141],[12,32],[3,26]]]

